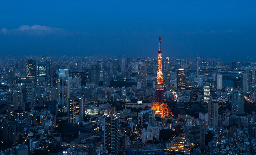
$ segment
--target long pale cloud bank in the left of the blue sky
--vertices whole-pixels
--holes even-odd
[[[1,29],[3,34],[21,34],[21,35],[49,35],[49,34],[64,34],[66,31],[61,28],[49,27],[44,25],[21,25],[18,29]]]

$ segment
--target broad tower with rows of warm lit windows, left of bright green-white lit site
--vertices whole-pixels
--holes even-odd
[[[70,97],[68,100],[68,123],[78,125],[84,119],[85,98]]]

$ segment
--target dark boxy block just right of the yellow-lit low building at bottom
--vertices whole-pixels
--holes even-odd
[[[194,128],[195,144],[199,144],[201,149],[205,147],[205,127],[195,126]]]

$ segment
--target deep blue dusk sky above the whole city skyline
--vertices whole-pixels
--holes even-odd
[[[156,57],[161,30],[163,57],[254,56],[255,4],[2,2],[0,50],[1,55]]]

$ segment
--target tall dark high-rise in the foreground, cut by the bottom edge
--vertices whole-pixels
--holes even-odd
[[[105,117],[104,144],[110,155],[119,154],[119,118]]]

